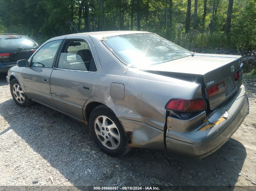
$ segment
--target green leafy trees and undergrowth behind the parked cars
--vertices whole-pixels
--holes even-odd
[[[192,0],[188,33],[185,33],[187,0],[172,0],[172,24],[169,20],[170,0],[0,0],[0,32],[25,34],[43,43],[51,37],[76,33],[68,23],[70,21],[79,32],[98,31],[100,28],[136,30],[140,27],[188,49],[207,48],[214,52],[216,47],[230,47],[239,52],[240,49],[255,48],[256,1],[234,0],[228,35],[224,33],[228,0],[214,1],[217,10],[213,34],[210,34],[213,0],[207,0],[205,18],[204,0],[198,0],[196,30],[192,30]],[[103,10],[100,9],[102,6]],[[86,7],[88,21],[85,19]]]

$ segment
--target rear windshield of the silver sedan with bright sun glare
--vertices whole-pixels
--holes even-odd
[[[102,42],[123,63],[137,68],[193,55],[192,52],[154,33],[108,37]]]

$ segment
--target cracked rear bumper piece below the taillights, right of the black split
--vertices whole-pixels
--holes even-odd
[[[184,135],[176,134],[179,136],[175,136],[173,131],[167,132],[167,150],[193,158],[204,158],[218,150],[236,132],[248,114],[249,106],[244,95],[243,86],[241,86],[241,91],[237,96],[234,96],[230,102],[232,105],[228,110],[228,119],[211,129],[182,133]]]

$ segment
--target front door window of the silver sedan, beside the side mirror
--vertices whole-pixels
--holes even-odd
[[[32,66],[41,68],[52,68],[55,55],[62,40],[54,40],[45,44],[33,56]]]

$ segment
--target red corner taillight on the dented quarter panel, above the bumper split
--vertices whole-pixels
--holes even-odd
[[[205,103],[203,99],[199,99],[199,100],[171,99],[166,104],[165,109],[180,111],[180,112],[204,111]]]

